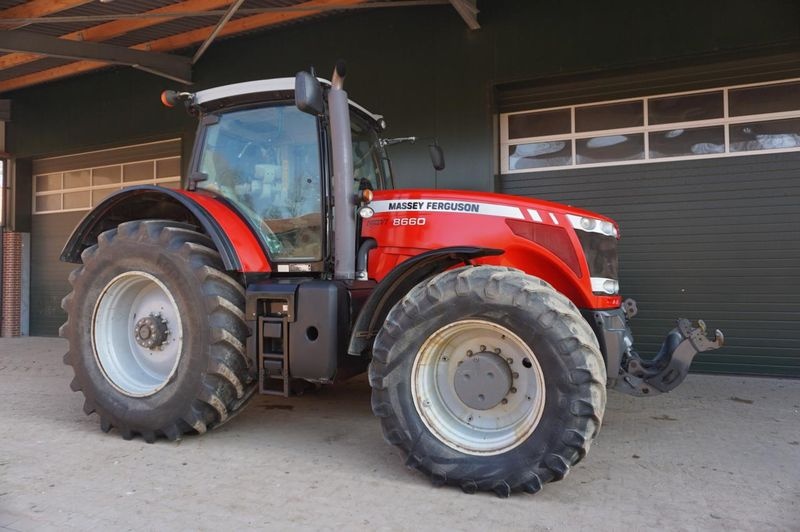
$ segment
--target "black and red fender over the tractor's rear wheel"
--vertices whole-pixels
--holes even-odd
[[[174,220],[201,228],[214,242],[226,270],[271,270],[258,239],[228,204],[210,196],[152,185],[129,187],[103,200],[72,232],[61,260],[80,263],[81,253],[97,242],[100,233],[123,222],[145,219]]]

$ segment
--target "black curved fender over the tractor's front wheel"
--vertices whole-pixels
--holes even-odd
[[[501,249],[457,246],[427,251],[398,264],[375,287],[361,308],[347,353],[354,356],[366,354],[389,311],[414,286],[458,264],[469,264],[473,259],[502,253]]]

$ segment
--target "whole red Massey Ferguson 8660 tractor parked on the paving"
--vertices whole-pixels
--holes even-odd
[[[87,414],[147,442],[204,433],[256,392],[369,370],[387,441],[435,484],[535,493],[589,449],[606,388],[656,395],[722,344],[679,320],[633,349],[614,221],[499,194],[395,190],[384,120],[344,68],[197,93],[184,190],[124,189],[61,260],[64,357]],[[443,157],[433,146],[439,169]]]

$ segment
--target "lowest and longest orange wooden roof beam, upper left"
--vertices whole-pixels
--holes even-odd
[[[309,0],[300,5],[302,6],[324,6],[330,7],[332,5],[355,5],[366,2],[367,0]],[[253,15],[252,17],[244,17],[229,22],[225,28],[220,32],[220,35],[233,35],[243,31],[255,30],[264,28],[291,20],[297,20],[311,15],[315,15],[320,11],[298,11],[298,12],[285,12],[285,13],[262,13],[260,15]],[[132,46],[134,50],[151,50],[155,52],[167,52],[179,48],[186,48],[193,44],[204,41],[214,31],[215,26],[208,26],[185,33],[173,35],[171,37],[164,37],[146,43],[137,44]],[[61,79],[77,74],[84,74],[108,66],[106,63],[98,63],[96,61],[77,61],[68,65],[63,65],[41,72],[34,72],[25,76],[0,81],[0,92],[7,92],[11,90],[29,87],[39,83],[45,83],[56,79]]]

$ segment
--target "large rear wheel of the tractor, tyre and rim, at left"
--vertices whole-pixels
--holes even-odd
[[[123,223],[102,233],[70,275],[64,363],[104,432],[148,443],[204,433],[255,391],[244,290],[194,229]]]

